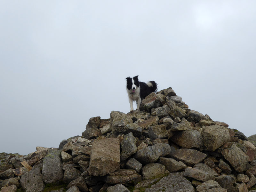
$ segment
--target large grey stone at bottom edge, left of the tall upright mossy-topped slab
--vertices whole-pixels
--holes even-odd
[[[40,169],[41,167],[35,167],[21,176],[20,184],[26,192],[41,192],[44,190],[44,181]]]

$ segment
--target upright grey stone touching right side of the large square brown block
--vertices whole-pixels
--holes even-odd
[[[133,136],[132,132],[125,135],[124,140],[121,142],[121,148],[121,161],[124,161],[129,156],[137,152],[136,138]]]

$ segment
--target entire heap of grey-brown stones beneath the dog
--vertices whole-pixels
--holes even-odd
[[[189,109],[171,87],[82,131],[59,148],[1,153],[1,192],[256,192],[256,135]]]

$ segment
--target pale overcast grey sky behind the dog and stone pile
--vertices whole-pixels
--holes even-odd
[[[127,76],[256,134],[256,1],[0,1],[0,152],[130,110]]]

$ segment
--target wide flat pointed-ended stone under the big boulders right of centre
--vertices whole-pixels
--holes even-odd
[[[170,156],[188,166],[194,166],[202,162],[207,155],[195,149],[175,149],[171,147]]]

